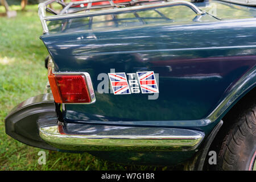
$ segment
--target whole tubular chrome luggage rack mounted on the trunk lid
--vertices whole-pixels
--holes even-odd
[[[109,2],[109,5],[92,5],[96,2]],[[58,3],[63,7],[60,12],[57,12],[48,5],[52,3]],[[136,6],[134,6],[136,5]],[[131,0],[130,2],[114,3],[113,0],[86,0],[65,3],[63,0],[48,0],[42,2],[38,6],[38,14],[42,23],[43,33],[49,32],[47,27],[47,21],[61,20],[69,18],[81,18],[90,17],[95,15],[109,15],[118,13],[130,13],[138,10],[158,9],[161,7],[171,6],[187,6],[193,10],[197,15],[205,14],[205,11],[201,11],[198,7],[187,1],[168,1],[168,0]],[[97,10],[97,11],[90,11]],[[79,13],[83,11],[82,13]],[[46,15],[46,12],[53,15]]]

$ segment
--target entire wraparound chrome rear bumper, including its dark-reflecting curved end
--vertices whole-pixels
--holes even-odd
[[[5,122],[11,137],[48,150],[193,151],[204,138],[203,132],[187,129],[58,122],[50,93],[22,102]]]

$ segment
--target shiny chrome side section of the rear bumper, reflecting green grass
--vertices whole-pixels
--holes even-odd
[[[102,130],[101,125],[92,128],[97,130],[97,127]],[[204,138],[203,132],[186,129],[112,127],[115,127],[119,134],[113,135],[113,131],[90,133],[90,128],[88,135],[67,134],[63,133],[61,124],[40,127],[39,134],[51,146],[69,151],[191,151],[195,150]],[[146,134],[143,131],[147,131]],[[175,135],[176,132],[179,135]]]

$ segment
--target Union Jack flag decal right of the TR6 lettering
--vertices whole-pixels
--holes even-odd
[[[156,84],[155,74],[150,72],[137,72],[139,85],[142,93],[159,93],[158,85]]]

